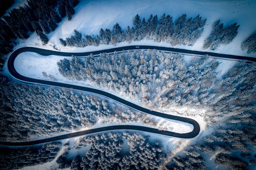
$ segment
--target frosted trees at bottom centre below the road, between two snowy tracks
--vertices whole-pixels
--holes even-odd
[[[68,157],[69,150],[87,146],[86,153]],[[68,146],[56,162],[60,169],[157,169],[166,155],[161,147],[141,134],[108,132],[80,138],[76,148]]]

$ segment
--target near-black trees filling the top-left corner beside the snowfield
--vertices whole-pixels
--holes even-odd
[[[15,39],[26,39],[31,32],[36,32],[42,42],[48,42],[45,34],[54,31],[56,23],[67,15],[68,20],[74,14],[78,0],[28,0],[0,20],[0,53],[12,52]]]

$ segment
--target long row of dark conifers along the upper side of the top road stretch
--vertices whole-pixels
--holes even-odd
[[[195,18],[187,18],[186,14],[180,16],[175,22],[170,15],[162,15],[158,20],[157,15],[150,15],[148,20],[141,20],[136,15],[133,20],[133,27],[127,27],[122,30],[120,25],[116,23],[113,30],[100,29],[99,35],[86,35],[82,38],[81,33],[75,30],[75,36],[71,36],[66,40],[60,38],[61,44],[64,46],[84,47],[87,45],[115,45],[123,41],[140,41],[141,39],[153,39],[155,41],[166,41],[172,45],[189,45],[195,44],[202,32],[204,31],[206,19],[202,19],[199,15]]]

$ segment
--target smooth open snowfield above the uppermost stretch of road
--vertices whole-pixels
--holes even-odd
[[[186,13],[188,17],[195,17],[200,14],[203,18],[207,18],[205,30],[194,46],[177,45],[175,47],[204,51],[202,48],[204,39],[211,32],[213,22],[220,19],[224,25],[237,22],[240,27],[232,43],[221,45],[216,52],[256,57],[256,53],[248,55],[246,51],[242,51],[240,48],[242,41],[256,31],[255,9],[255,0],[81,0],[75,8],[76,13],[72,20],[68,21],[67,17],[63,18],[56,31],[47,35],[49,37],[49,43],[47,45],[43,46],[36,34],[33,33],[30,38],[21,40],[19,45],[15,46],[15,49],[21,46],[38,46],[53,50],[52,46],[56,45],[56,48],[61,51],[86,52],[112,48],[113,45],[86,46],[85,48],[63,47],[60,44],[59,38],[71,36],[74,33],[74,29],[77,29],[83,34],[98,34],[101,27],[112,29],[116,22],[120,24],[122,29],[125,29],[128,25],[132,25],[132,19],[137,13],[146,19],[150,14],[160,17],[163,13],[166,13],[173,16],[174,20],[183,13]],[[170,46],[168,43],[156,43],[148,40],[132,42],[131,44],[120,43],[117,46],[124,45]]]

